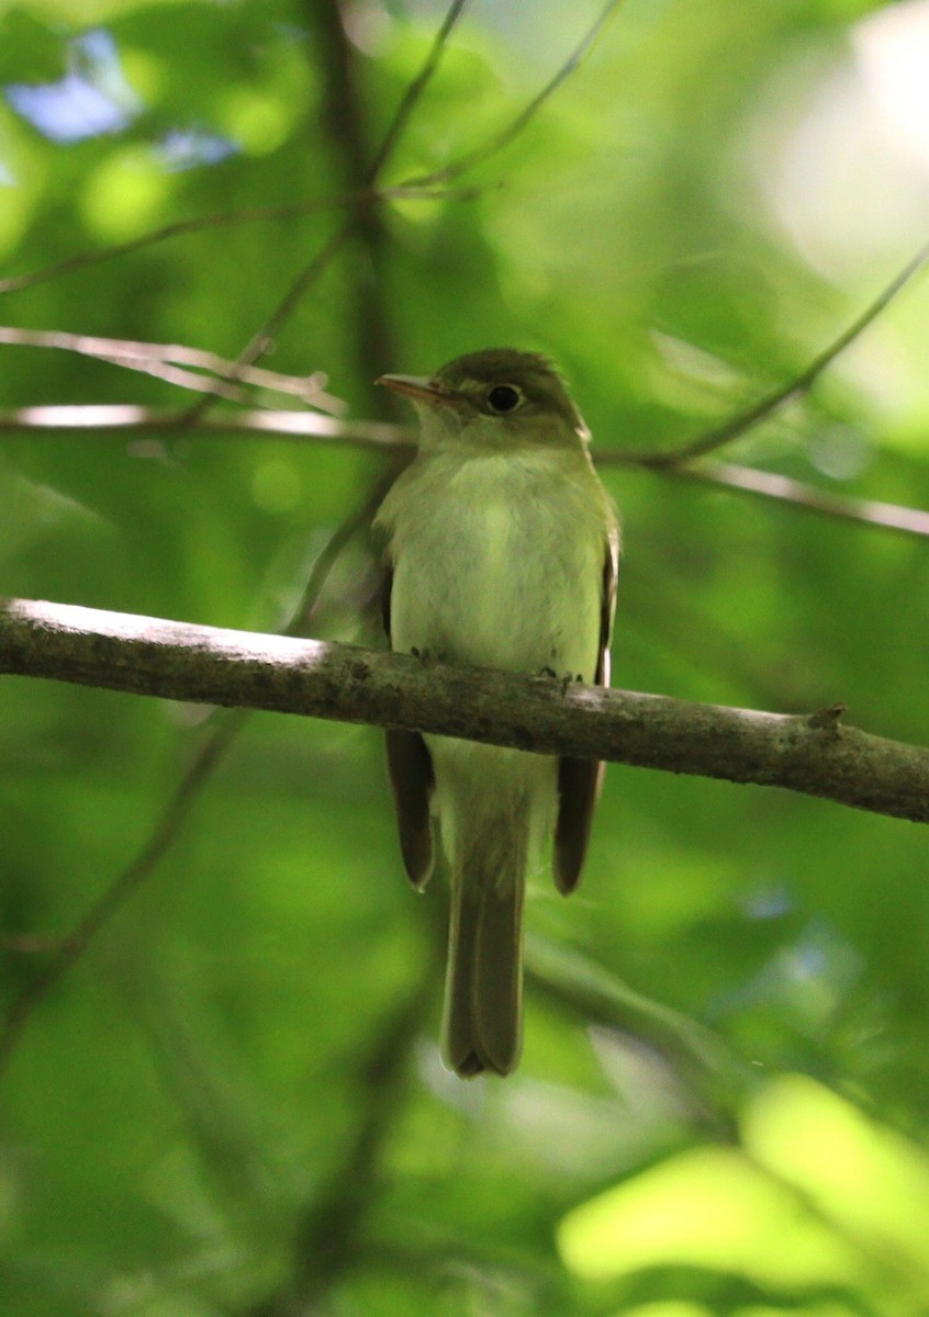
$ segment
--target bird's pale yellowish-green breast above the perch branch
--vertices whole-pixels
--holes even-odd
[[[593,680],[605,528],[585,483],[547,453],[428,474],[411,522],[398,522],[394,648]]]

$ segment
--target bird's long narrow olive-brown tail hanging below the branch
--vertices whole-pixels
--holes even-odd
[[[463,1077],[509,1075],[522,1047],[527,826],[482,822],[452,857],[443,1050]]]

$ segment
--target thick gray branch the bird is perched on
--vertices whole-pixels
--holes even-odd
[[[796,716],[565,691],[547,677],[30,599],[0,601],[0,672],[785,786],[929,822],[929,749],[842,727],[838,706]]]

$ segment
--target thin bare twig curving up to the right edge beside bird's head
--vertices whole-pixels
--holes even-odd
[[[708,431],[705,435],[698,435],[697,439],[689,440],[687,444],[681,444],[680,448],[673,448],[667,453],[635,453],[633,454],[636,462],[642,466],[673,466],[680,462],[692,461],[694,457],[704,457],[706,453],[713,453],[725,444],[729,444],[733,439],[738,439],[739,435],[745,435],[746,431],[752,429],[760,421],[767,420],[775,412],[780,411],[787,403],[792,402],[795,398],[801,398],[808,394],[813,387],[816,381],[824,374],[825,370],[831,366],[837,357],[839,357],[846,348],[851,346],[857,338],[864,333],[864,331],[874,324],[878,316],[884,311],[889,303],[901,292],[912,279],[922,270],[926,261],[929,261],[929,244],[926,244],[912,261],[896,274],[891,282],[883,288],[874,302],[862,311],[857,320],[843,329],[842,333],[835,338],[828,348],[825,348],[818,357],[814,357],[805,370],[801,370],[799,375],[791,379],[787,385],[780,389],[775,389],[774,392],[767,394],[767,396],[752,403],[747,411],[738,412],[735,416],[730,416],[729,420],[723,421],[722,425],[717,425],[714,429]]]

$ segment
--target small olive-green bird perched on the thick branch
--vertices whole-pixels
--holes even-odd
[[[418,456],[374,522],[391,648],[609,685],[617,518],[551,362],[490,348],[378,383],[420,421]],[[522,1046],[526,874],[553,834],[555,882],[575,889],[604,765],[395,731],[387,765],[410,880],[428,880],[436,832],[451,871],[445,1063],[509,1075]]]

